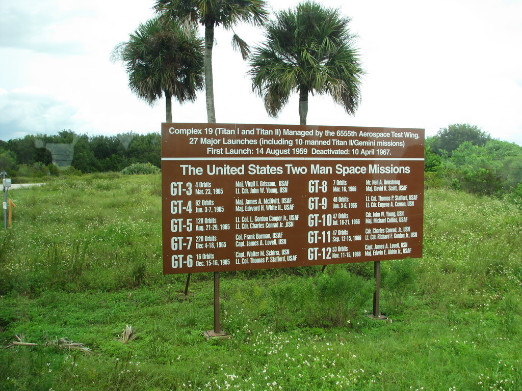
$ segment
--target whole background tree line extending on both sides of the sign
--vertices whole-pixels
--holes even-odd
[[[161,166],[159,133],[87,136],[62,130],[0,140],[0,169],[10,177],[120,172],[135,163]],[[428,187],[522,198],[522,146],[493,139],[475,125],[449,125],[425,140],[425,182]]]

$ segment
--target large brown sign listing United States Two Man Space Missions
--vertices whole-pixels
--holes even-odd
[[[163,273],[422,256],[424,130],[162,124]]]

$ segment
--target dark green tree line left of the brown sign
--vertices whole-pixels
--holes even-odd
[[[134,163],[161,166],[159,133],[87,136],[62,130],[56,135],[0,140],[0,169],[9,177],[119,172]]]

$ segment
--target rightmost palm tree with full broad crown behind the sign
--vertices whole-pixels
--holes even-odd
[[[306,125],[310,93],[329,93],[348,114],[355,112],[364,71],[349,22],[338,9],[305,2],[268,23],[266,42],[254,50],[248,74],[271,117],[293,92],[299,92],[301,125]]]

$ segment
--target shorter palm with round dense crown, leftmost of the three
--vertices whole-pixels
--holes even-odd
[[[172,96],[194,101],[203,89],[203,40],[174,19],[156,17],[139,25],[113,56],[125,64],[129,87],[151,106],[165,95],[167,122],[172,122]]]

